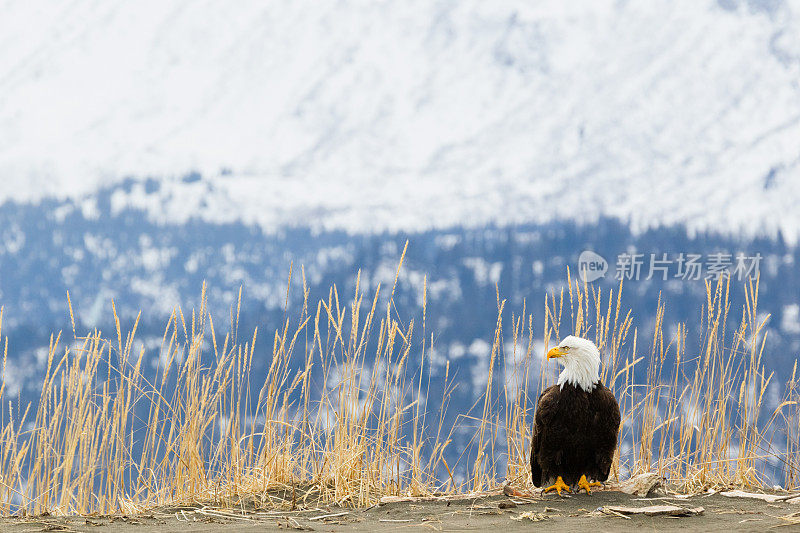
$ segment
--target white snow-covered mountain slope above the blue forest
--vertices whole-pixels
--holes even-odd
[[[563,4],[0,2],[0,199],[800,236],[799,2]]]

